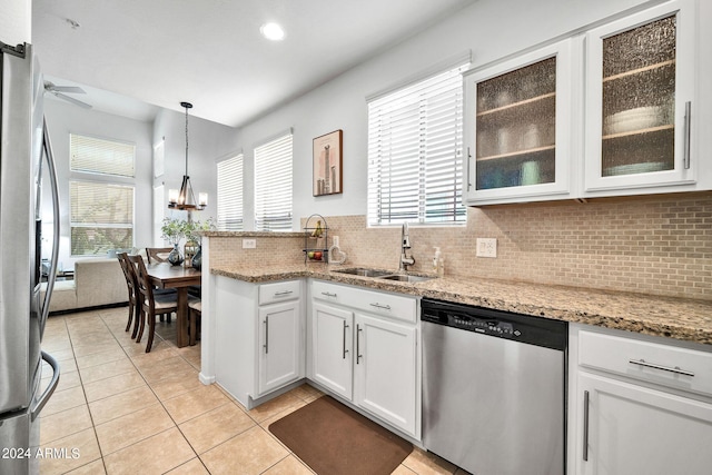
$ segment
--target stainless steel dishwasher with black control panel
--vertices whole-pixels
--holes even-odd
[[[425,447],[475,475],[564,474],[567,324],[421,307]]]

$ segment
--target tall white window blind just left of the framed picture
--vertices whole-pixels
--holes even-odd
[[[255,230],[291,230],[291,132],[255,149]]]

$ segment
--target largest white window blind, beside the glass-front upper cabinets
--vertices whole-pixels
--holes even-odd
[[[458,224],[462,65],[368,102],[368,224]]]

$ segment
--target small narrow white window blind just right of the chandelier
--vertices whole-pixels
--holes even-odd
[[[218,229],[243,230],[243,154],[218,164]]]

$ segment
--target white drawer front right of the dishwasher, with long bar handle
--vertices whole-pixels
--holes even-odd
[[[592,331],[578,345],[581,366],[712,396],[712,353]]]

